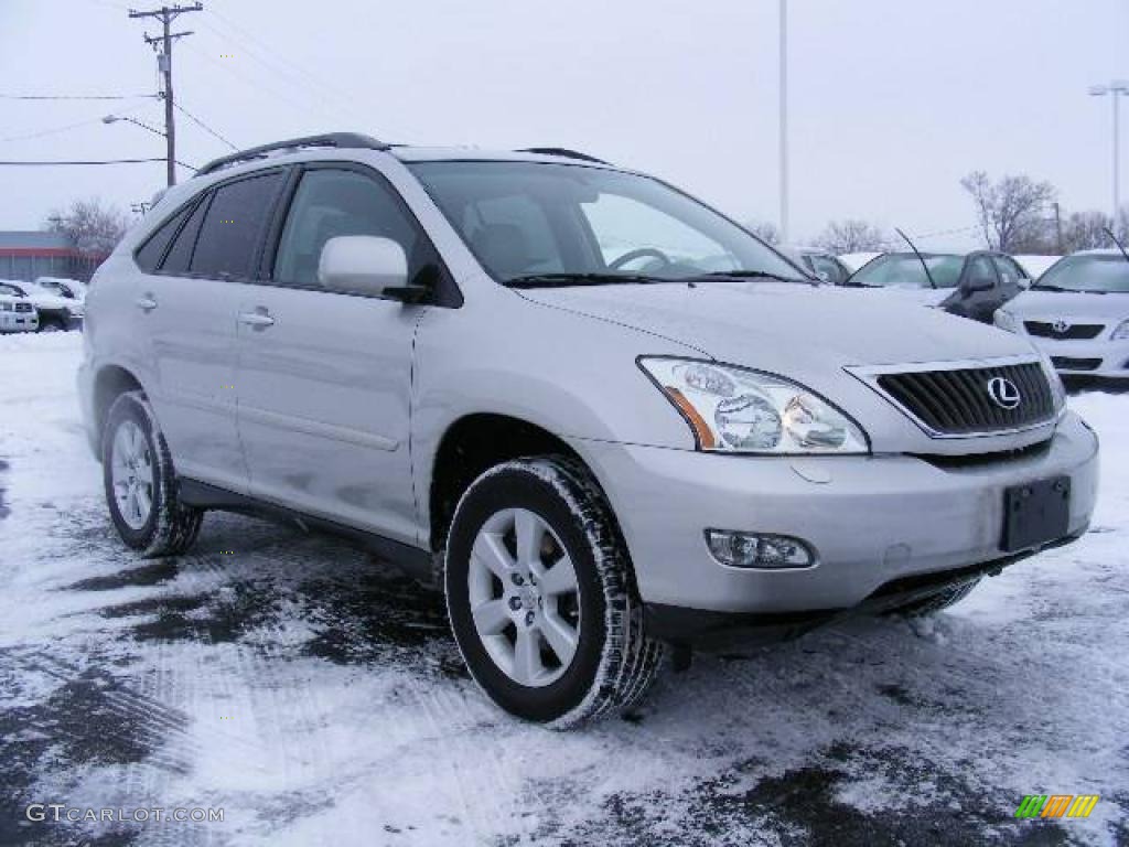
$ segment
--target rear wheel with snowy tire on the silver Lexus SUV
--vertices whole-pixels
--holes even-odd
[[[203,510],[180,501],[168,444],[140,391],[121,394],[110,407],[102,437],[102,475],[110,517],[129,547],[147,558],[176,556],[192,547]],[[123,501],[119,495],[123,487],[130,488],[130,478],[135,480],[134,496],[131,499],[126,494]],[[141,508],[146,500],[148,509]]]

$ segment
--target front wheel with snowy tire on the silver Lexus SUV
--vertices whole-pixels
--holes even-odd
[[[536,521],[542,534],[530,535],[527,527]],[[536,548],[526,557],[528,567],[518,555],[519,539],[526,538],[540,539],[527,545]],[[568,568],[558,571],[566,561],[572,565],[574,587],[558,591],[569,584]],[[526,577],[525,593],[511,587],[515,571]],[[664,645],[644,632],[642,604],[612,510],[588,471],[569,459],[506,462],[471,483],[452,521],[444,587],[471,675],[519,718],[566,728],[625,711],[642,698],[662,663]],[[499,614],[509,610],[508,619],[483,613],[483,597],[491,596],[502,603],[495,608]],[[476,623],[472,608],[490,625]],[[562,643],[562,631],[575,636],[567,663],[560,656],[568,650],[554,646]],[[523,654],[522,639],[536,648]],[[523,662],[522,655],[534,658]]]

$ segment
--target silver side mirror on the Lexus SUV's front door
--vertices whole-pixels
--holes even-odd
[[[317,281],[331,291],[418,303],[427,290],[408,286],[408,256],[391,238],[341,235],[322,247]],[[408,297],[405,291],[415,291]]]

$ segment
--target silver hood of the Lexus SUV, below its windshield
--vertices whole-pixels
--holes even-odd
[[[525,289],[528,300],[662,335],[784,375],[1031,353],[991,326],[870,291],[774,282]],[[646,353],[641,349],[640,353]]]

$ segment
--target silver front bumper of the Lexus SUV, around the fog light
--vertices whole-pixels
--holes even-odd
[[[1045,447],[966,465],[912,455],[759,457],[575,439],[607,494],[648,605],[791,614],[849,609],[882,586],[1014,558],[1001,549],[1005,489],[1071,481],[1068,535],[1097,490],[1097,438],[1068,412]],[[791,535],[802,570],[719,565],[706,527]]]

